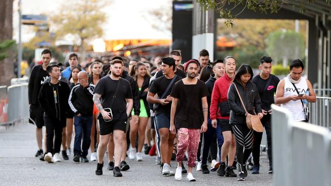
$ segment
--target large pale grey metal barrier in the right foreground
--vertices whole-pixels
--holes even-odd
[[[331,185],[329,130],[295,122],[287,109],[271,107],[274,185]]]

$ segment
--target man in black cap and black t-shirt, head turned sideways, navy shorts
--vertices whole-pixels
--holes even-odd
[[[170,161],[172,157],[174,139],[176,134],[171,134],[170,128],[170,110],[172,97],[170,92],[175,83],[181,79],[181,77],[175,75],[175,60],[172,57],[165,57],[161,59],[161,70],[164,76],[156,78],[149,88],[147,94],[147,101],[152,104],[158,104],[158,108],[155,109],[156,128],[160,135],[160,154],[161,154],[161,167],[162,175],[174,174],[170,171]],[[171,85],[171,86],[169,86]],[[169,86],[169,88],[168,88]],[[168,90],[167,90],[168,89]],[[166,91],[167,90],[167,91]],[[160,98],[154,98],[155,95]]]

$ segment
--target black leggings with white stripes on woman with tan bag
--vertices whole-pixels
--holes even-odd
[[[253,130],[249,130],[246,123],[234,123],[231,126],[237,143],[236,151],[239,172],[243,172],[243,167],[252,152]]]

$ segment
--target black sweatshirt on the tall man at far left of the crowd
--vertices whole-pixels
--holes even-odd
[[[36,65],[33,67],[29,79],[28,87],[28,97],[29,104],[38,105],[38,94],[41,85],[48,79],[48,73],[43,70],[42,65]]]

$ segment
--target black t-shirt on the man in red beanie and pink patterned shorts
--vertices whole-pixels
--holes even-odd
[[[208,96],[206,84],[198,80],[197,84],[184,84],[178,81],[171,96],[178,98],[175,126],[176,129],[200,129],[203,123],[201,98]]]

